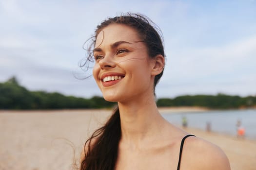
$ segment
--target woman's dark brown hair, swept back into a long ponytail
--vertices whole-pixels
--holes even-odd
[[[147,47],[151,58],[158,54],[165,56],[163,38],[160,30],[148,17],[127,13],[118,17],[108,18],[97,26],[95,35],[91,38],[92,43],[88,47],[86,62],[81,67],[88,67],[88,62],[93,61],[93,48],[99,32],[110,24],[125,24],[137,30],[138,35]],[[86,68],[87,69],[87,68]],[[163,71],[155,76],[156,87]],[[106,124],[96,130],[85,142],[84,159],[80,170],[114,170],[118,158],[118,143],[121,137],[120,116],[118,107]],[[92,142],[93,139],[93,142]]]

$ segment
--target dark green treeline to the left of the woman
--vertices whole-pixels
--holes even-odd
[[[19,85],[15,77],[0,83],[0,109],[81,109],[108,108],[116,103],[102,97],[91,99],[64,96],[60,93],[28,91]]]

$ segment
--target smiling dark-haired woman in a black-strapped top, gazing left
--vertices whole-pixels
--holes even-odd
[[[87,61],[95,59],[98,87],[118,108],[86,141],[81,170],[230,170],[221,149],[159,114],[155,86],[165,54],[156,30],[130,13],[98,25]]]

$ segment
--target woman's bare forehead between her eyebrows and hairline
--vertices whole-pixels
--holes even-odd
[[[111,24],[99,32],[95,47],[113,44],[118,41],[134,42],[140,40],[138,32],[134,28],[124,24]]]

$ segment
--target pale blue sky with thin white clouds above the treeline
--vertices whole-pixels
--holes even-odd
[[[29,90],[102,96],[82,71],[84,42],[108,17],[150,17],[167,62],[158,98],[256,95],[256,0],[0,0],[0,82]]]

